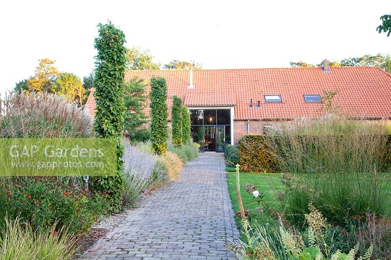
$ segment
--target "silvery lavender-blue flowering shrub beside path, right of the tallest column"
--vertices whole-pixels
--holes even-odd
[[[156,158],[139,151],[136,147],[127,145],[124,152],[125,189],[124,204],[132,204],[139,199],[140,194],[147,189],[152,180]]]

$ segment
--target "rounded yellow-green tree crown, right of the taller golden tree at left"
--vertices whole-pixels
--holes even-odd
[[[83,105],[86,99],[86,89],[83,87],[82,80],[75,74],[64,72],[55,80],[53,92],[69,99],[71,102],[77,102],[79,106]]]

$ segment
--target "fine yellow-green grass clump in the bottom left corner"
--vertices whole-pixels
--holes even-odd
[[[0,259],[69,259],[74,252],[75,237],[66,228],[50,232],[34,230],[28,222],[5,219],[0,233]]]

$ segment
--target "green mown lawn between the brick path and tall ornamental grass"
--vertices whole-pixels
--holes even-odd
[[[232,200],[232,205],[235,213],[239,212],[238,197],[236,192],[236,174],[232,172],[227,173],[228,179],[228,191]],[[251,222],[257,221],[260,224],[266,224],[272,222],[271,218],[266,213],[257,211],[257,208],[264,208],[262,205],[252,201],[254,196],[248,194],[244,187],[244,183],[250,183],[258,188],[258,191],[265,195],[264,200],[268,203],[269,207],[273,209],[279,209],[277,203],[277,195],[282,191],[282,183],[280,181],[279,174],[267,174],[267,173],[240,173],[240,194],[243,201],[244,209],[252,211],[251,216],[255,216],[251,219]],[[263,209],[264,210],[264,209]],[[241,227],[240,220],[235,216],[235,221],[238,227]]]

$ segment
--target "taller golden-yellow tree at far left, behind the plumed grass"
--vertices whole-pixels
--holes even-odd
[[[53,66],[55,60],[44,58],[39,60],[39,65],[35,69],[35,75],[27,80],[27,92],[53,93],[53,84],[56,77],[60,74],[58,69]]]

